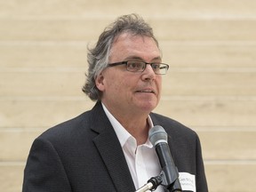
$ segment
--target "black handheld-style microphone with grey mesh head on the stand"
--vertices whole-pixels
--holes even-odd
[[[152,127],[148,132],[150,142],[156,148],[156,154],[158,156],[162,172],[160,176],[163,178],[162,185],[170,192],[182,191],[179,180],[179,172],[175,166],[170,148],[167,142],[167,133],[160,125]]]

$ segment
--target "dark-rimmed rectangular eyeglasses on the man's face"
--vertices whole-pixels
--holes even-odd
[[[146,66],[150,65],[151,68],[154,70],[156,75],[165,75],[169,65],[164,63],[147,63],[144,61],[138,61],[138,60],[126,60],[122,62],[116,62],[116,63],[110,63],[108,64],[108,67],[114,67],[118,65],[126,65],[126,69],[131,72],[143,72],[146,68]]]

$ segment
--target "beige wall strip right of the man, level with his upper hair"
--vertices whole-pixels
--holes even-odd
[[[256,20],[154,20],[151,22],[161,40],[254,41]]]

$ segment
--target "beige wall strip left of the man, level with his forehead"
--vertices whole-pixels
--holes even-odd
[[[0,42],[0,58],[4,68],[86,68],[87,42]]]

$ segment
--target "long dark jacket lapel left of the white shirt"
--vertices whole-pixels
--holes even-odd
[[[93,139],[100,156],[108,169],[116,191],[135,191],[132,176],[126,163],[123,149],[117,139],[116,132],[108,121],[101,104],[98,102],[92,109],[92,130],[99,132]]]

